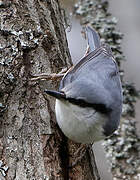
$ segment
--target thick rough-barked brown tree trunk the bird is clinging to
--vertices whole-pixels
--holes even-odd
[[[0,179],[99,179],[91,146],[68,140],[34,74],[71,66],[57,0],[0,1]],[[81,149],[81,150],[80,150]]]

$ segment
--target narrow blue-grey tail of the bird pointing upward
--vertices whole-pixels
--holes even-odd
[[[88,45],[90,48],[90,52],[94,51],[95,49],[99,48],[101,43],[100,43],[100,37],[98,33],[92,29],[91,27],[87,26],[86,27],[86,36],[88,39]]]

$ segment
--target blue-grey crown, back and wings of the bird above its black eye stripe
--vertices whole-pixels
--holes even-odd
[[[84,60],[62,79],[60,91],[67,99],[105,104],[108,108],[114,104],[118,106],[121,103],[121,84],[116,62],[103,51]]]

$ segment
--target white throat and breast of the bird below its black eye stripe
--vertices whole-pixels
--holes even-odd
[[[80,107],[68,101],[56,100],[56,119],[63,133],[78,143],[93,143],[104,139],[106,115],[91,107]]]

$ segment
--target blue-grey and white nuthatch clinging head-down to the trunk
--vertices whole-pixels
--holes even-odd
[[[57,123],[69,139],[90,144],[117,130],[122,113],[122,85],[118,65],[108,44],[86,26],[88,51],[60,81],[45,92],[56,98]]]

